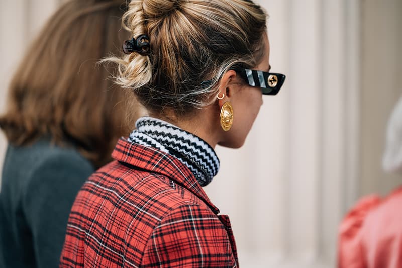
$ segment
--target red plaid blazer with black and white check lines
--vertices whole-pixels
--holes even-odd
[[[190,170],[120,139],[75,199],[60,267],[237,267],[230,221]]]

